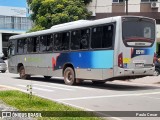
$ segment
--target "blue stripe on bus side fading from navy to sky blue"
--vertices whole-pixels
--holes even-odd
[[[61,53],[57,58],[56,68],[65,63],[71,63],[75,68],[112,68],[113,53],[113,50]]]

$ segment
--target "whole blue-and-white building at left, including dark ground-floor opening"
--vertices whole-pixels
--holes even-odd
[[[0,0],[0,57],[7,56],[8,39],[32,26],[26,0]],[[2,49],[3,48],[3,49]]]

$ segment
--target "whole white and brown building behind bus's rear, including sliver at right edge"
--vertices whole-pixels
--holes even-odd
[[[126,4],[126,0],[92,0],[87,7],[89,11],[92,11],[93,19],[127,14],[146,16],[156,19],[157,53],[160,55],[160,0],[127,1],[128,4]]]

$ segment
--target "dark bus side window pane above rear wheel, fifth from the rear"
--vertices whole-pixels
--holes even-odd
[[[69,50],[69,39],[70,39],[70,33],[65,32],[62,33],[62,48],[61,50]]]

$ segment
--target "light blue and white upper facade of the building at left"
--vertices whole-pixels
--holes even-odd
[[[26,0],[0,0],[0,30],[25,32],[31,28]]]

